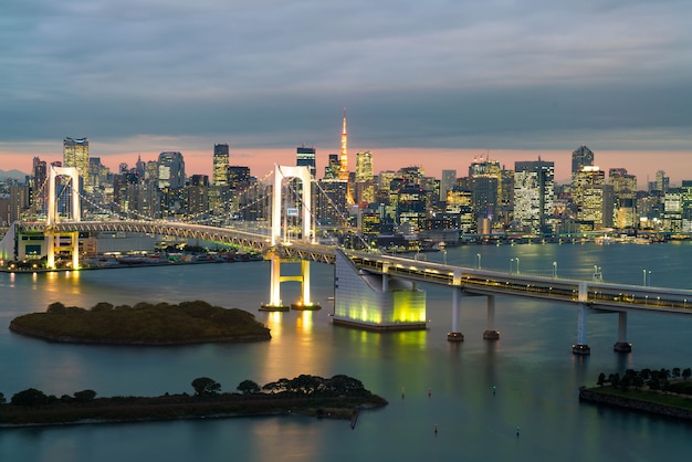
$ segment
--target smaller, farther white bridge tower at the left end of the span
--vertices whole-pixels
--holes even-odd
[[[48,267],[55,269],[55,248],[65,248],[63,245],[64,238],[69,238],[67,248],[72,252],[72,267],[77,270],[80,266],[80,233],[78,232],[57,232],[55,224],[61,219],[57,209],[57,198],[55,195],[55,179],[57,177],[69,178],[72,183],[71,190],[71,213],[72,221],[81,221],[82,211],[80,209],[80,175],[75,167],[55,167],[51,166],[49,175],[49,200],[48,200],[48,227],[45,228],[45,239],[48,241]]]

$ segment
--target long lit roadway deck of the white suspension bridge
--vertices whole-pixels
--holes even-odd
[[[45,231],[42,222],[22,222],[24,231]],[[55,232],[124,231],[165,234],[201,241],[221,242],[269,252],[269,235],[235,229],[170,221],[82,221],[60,222]],[[282,256],[322,263],[335,262],[336,248],[291,242],[274,249]],[[609,312],[658,312],[692,315],[692,291],[641,285],[612,284],[478,270],[418,261],[381,253],[345,251],[360,271],[388,274],[409,281],[460,287],[471,295],[507,295],[565,302]]]

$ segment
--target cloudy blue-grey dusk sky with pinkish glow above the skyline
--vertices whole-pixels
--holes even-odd
[[[690,179],[691,23],[686,0],[2,0],[0,169],[66,136],[112,168],[180,150],[207,174],[214,143],[255,175],[302,143],[321,168],[347,107],[352,169],[487,153],[566,177],[586,144]]]

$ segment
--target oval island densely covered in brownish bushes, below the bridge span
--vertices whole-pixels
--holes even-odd
[[[254,315],[207,302],[97,303],[90,309],[52,303],[44,313],[15,317],[10,330],[51,342],[107,345],[186,345],[212,342],[258,342],[270,329]]]

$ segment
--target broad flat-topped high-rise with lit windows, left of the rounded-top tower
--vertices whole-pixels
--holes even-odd
[[[555,199],[555,162],[514,162],[514,220],[533,231],[547,232]]]

